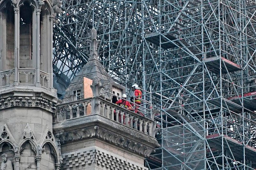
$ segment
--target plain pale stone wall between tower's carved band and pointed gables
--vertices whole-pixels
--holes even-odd
[[[52,129],[52,113],[36,107],[15,107],[0,110],[0,125],[7,124],[17,142],[20,140],[27,123],[36,140],[39,140],[46,125]]]

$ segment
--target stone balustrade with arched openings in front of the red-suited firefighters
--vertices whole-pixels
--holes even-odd
[[[57,105],[54,122],[62,122],[90,115],[101,115],[126,127],[153,136],[156,122],[99,97]]]

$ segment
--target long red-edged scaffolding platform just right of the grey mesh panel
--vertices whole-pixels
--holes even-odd
[[[253,164],[255,164],[255,157],[256,157],[255,148],[246,145],[243,150],[242,142],[235,140],[227,135],[224,135],[224,138],[228,142],[228,145],[227,145],[226,141],[224,140],[224,148],[227,150],[230,148],[236,160],[243,160],[243,152],[245,150],[246,158],[250,159],[252,162],[254,162]],[[208,135],[206,136],[206,139],[211,148],[221,150],[222,139],[219,134]]]

